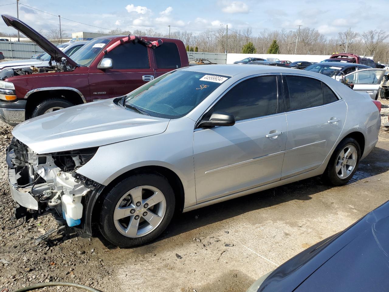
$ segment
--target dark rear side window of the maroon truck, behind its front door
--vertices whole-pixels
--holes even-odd
[[[164,42],[154,49],[157,67],[161,69],[177,69],[181,67],[180,53],[173,42]]]

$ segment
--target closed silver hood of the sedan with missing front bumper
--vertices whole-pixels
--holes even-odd
[[[161,134],[169,121],[135,113],[109,99],[27,120],[17,125],[12,134],[33,151],[43,154]]]

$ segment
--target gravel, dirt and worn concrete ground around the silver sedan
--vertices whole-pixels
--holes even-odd
[[[384,123],[389,102],[380,101]],[[159,239],[133,249],[71,236],[35,244],[32,238],[56,226],[51,216],[5,229],[15,225],[4,162],[11,129],[0,124],[0,290],[70,281],[107,292],[244,292],[388,199],[389,133],[381,130],[376,148],[345,186],[311,178],[184,213]]]

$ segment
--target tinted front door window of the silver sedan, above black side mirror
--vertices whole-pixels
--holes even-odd
[[[210,113],[233,114],[236,121],[277,113],[276,76],[254,77],[228,91]]]

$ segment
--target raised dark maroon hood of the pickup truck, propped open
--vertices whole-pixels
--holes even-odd
[[[70,59],[63,51],[61,51],[58,47],[54,46],[48,39],[38,33],[36,30],[26,25],[23,21],[15,18],[11,15],[3,14],[2,18],[6,25],[12,26],[19,32],[23,33],[26,37],[35,42],[39,47],[41,47],[45,52],[47,52],[54,61],[61,62],[62,58],[65,58],[68,61],[69,65],[73,67],[77,66],[72,59]]]

